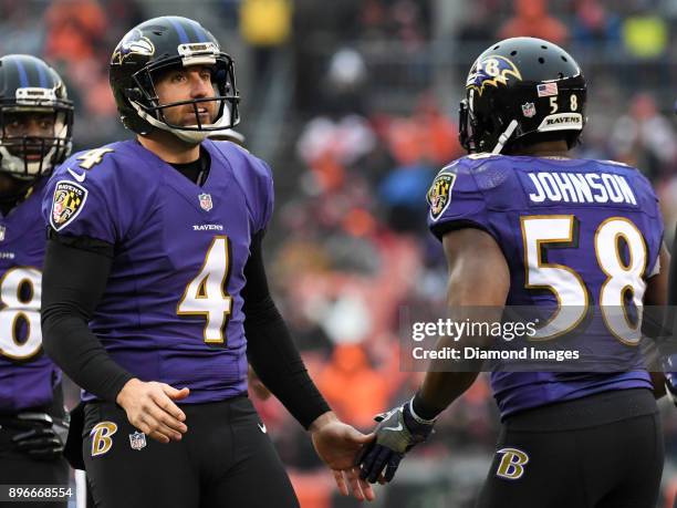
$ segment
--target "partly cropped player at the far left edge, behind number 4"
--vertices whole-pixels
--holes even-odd
[[[41,205],[48,175],[71,152],[73,104],[42,60],[0,59],[0,483],[67,487],[61,372],[40,331]]]

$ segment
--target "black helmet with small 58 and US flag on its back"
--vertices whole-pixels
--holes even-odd
[[[498,154],[540,133],[563,132],[571,148],[585,125],[585,77],[566,51],[542,39],[506,39],[470,69],[460,143],[470,153]]]

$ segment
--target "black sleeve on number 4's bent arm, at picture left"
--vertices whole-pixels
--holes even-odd
[[[51,231],[42,273],[42,345],[71,380],[97,397],[115,402],[134,376],[106,352],[90,328],[105,290],[113,246]]]

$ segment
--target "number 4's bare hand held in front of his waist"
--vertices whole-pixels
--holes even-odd
[[[160,443],[180,440],[188,431],[186,414],[174,403],[189,394],[188,388],[176,390],[166,383],[129,380],[115,402],[125,409],[127,419],[147,436]]]

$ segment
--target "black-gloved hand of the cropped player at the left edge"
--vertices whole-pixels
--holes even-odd
[[[12,444],[32,458],[54,460],[63,453],[67,419],[52,418],[46,413],[20,413],[12,425],[23,431],[12,437]]]

